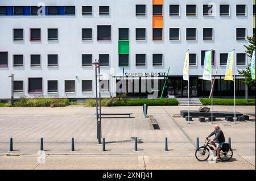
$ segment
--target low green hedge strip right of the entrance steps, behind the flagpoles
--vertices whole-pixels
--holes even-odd
[[[200,98],[204,106],[212,105],[212,99]],[[213,105],[216,106],[233,106],[234,99],[213,99]],[[255,106],[255,99],[249,99],[246,103],[245,99],[236,99],[237,106]]]

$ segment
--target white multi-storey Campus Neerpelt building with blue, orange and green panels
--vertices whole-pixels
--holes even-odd
[[[168,77],[164,96],[187,96],[182,75],[188,49],[191,95],[209,96],[203,62],[205,50],[213,49],[213,73],[218,68],[213,95],[232,96],[233,82],[224,81],[228,52],[236,51],[236,69],[250,63],[243,45],[253,36],[255,5],[252,0],[1,0],[0,24],[2,100],[10,98],[10,74],[14,98],[92,98],[94,60],[100,60],[109,85],[103,96],[115,96],[121,79],[131,87],[129,96],[144,96],[145,77],[158,80],[159,94]],[[235,74],[242,96],[243,77]]]

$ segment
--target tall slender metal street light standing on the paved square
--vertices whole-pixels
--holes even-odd
[[[100,62],[95,60],[92,62],[95,65],[95,85],[96,85],[96,117],[97,117],[97,138],[98,143],[101,144],[101,91],[100,91]],[[97,68],[98,68],[98,81],[97,81]],[[99,106],[98,106],[99,99]],[[99,108],[98,108],[99,107]],[[100,114],[98,113],[100,111]],[[100,120],[98,119],[100,117]]]

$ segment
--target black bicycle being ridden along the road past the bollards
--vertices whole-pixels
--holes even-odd
[[[214,144],[210,143],[210,139],[206,138],[204,146],[201,146],[196,150],[195,156],[198,161],[207,161],[210,156],[210,150],[212,150],[215,155],[217,154],[216,149],[210,145]],[[223,144],[220,149],[220,159],[222,161],[229,161],[232,157],[233,150],[230,148],[230,145],[228,143]]]

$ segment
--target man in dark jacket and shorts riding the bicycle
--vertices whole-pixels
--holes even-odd
[[[212,141],[210,141],[214,146],[215,149],[217,151],[217,156],[216,159],[219,159],[220,157],[220,149],[222,147],[222,145],[225,143],[225,136],[224,133],[222,132],[222,130],[220,129],[220,127],[216,124],[214,126],[214,131],[212,133],[210,133],[210,135],[207,137],[207,139],[211,136],[213,136],[213,134],[215,134],[215,137],[213,138]],[[217,143],[217,146],[216,146]]]

